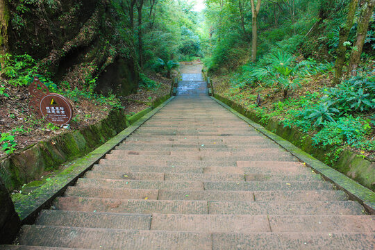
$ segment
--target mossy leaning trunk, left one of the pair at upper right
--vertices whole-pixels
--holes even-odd
[[[349,31],[351,26],[353,26],[354,15],[356,14],[358,0],[351,0],[349,3],[349,12],[347,23],[340,28],[339,33],[339,45],[338,45],[338,58],[335,63],[335,76],[333,77],[333,84],[338,85],[340,83],[340,78],[342,77],[342,67],[344,67],[345,53],[347,52],[347,47],[344,46],[344,42],[347,41],[349,37]]]

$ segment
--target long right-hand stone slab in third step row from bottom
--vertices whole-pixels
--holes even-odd
[[[214,215],[365,215],[357,201],[209,201],[208,208]]]

